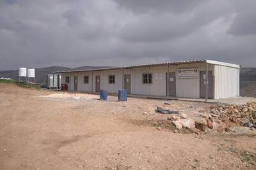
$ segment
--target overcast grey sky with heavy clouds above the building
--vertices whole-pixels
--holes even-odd
[[[0,0],[0,70],[211,59],[256,66],[255,0]]]

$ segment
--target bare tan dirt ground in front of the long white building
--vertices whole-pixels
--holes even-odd
[[[255,134],[159,131],[156,106],[204,103],[22,89],[0,84],[0,169],[255,169]],[[171,105],[164,105],[168,102]]]

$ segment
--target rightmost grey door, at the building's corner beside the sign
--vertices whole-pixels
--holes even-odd
[[[208,99],[213,99],[214,78],[212,71],[208,71]],[[200,98],[206,96],[206,71],[200,71]]]

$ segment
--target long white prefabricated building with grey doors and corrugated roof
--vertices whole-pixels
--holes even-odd
[[[70,91],[220,99],[239,96],[239,71],[237,64],[191,60],[56,73]]]

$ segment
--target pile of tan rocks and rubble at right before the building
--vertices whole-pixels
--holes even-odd
[[[256,128],[256,103],[243,105],[216,104],[211,108],[199,110],[196,117],[189,118],[184,113],[167,118],[178,130],[188,129],[196,134],[223,133],[233,131],[233,127],[244,126],[252,130]],[[179,131],[173,131],[179,132]]]

